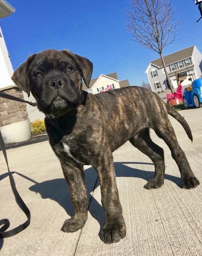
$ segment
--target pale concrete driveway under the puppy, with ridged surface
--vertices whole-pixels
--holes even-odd
[[[130,143],[124,144],[113,155],[127,235],[112,245],[105,245],[98,236],[104,213],[97,175],[90,166],[85,167],[90,199],[88,221],[82,230],[63,233],[60,229],[73,214],[73,207],[59,160],[49,143],[7,150],[10,169],[20,174],[13,176],[31,211],[31,224],[21,233],[1,239],[0,255],[202,255],[202,109],[187,109],[180,114],[190,124],[193,143],[183,127],[170,120],[201,185],[192,190],[181,188],[169,148],[152,132],[153,140],[165,150],[165,183],[159,189],[144,189],[153,177],[153,163]],[[15,203],[2,152],[0,166],[0,219],[8,218],[13,228],[26,217]]]

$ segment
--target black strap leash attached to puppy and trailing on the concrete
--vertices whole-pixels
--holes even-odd
[[[14,97],[12,95],[9,95],[9,94],[6,94],[6,93],[2,93],[2,92],[0,92],[0,97],[6,98],[6,99],[10,99],[10,100],[14,100],[14,101],[25,102],[25,103],[28,103],[28,104],[30,104],[32,106],[37,106],[37,103],[35,103],[35,102],[25,101],[23,99],[20,99],[20,98],[17,98],[17,97]],[[18,227],[14,228],[14,229],[9,230],[9,231],[5,231],[10,226],[9,220],[8,219],[0,220],[0,226],[3,225],[0,228],[0,238],[5,238],[5,237],[14,236],[15,234],[17,234],[17,233],[21,232],[22,230],[26,229],[28,227],[28,225],[30,224],[31,215],[30,215],[30,211],[29,211],[28,207],[26,206],[26,204],[24,203],[24,201],[20,197],[20,195],[19,195],[19,193],[18,193],[18,191],[17,191],[17,189],[15,187],[15,181],[14,181],[13,176],[12,176],[10,170],[9,170],[8,159],[7,159],[7,155],[6,155],[6,149],[5,149],[5,144],[3,142],[1,130],[0,130],[0,146],[2,148],[4,158],[6,160],[6,165],[7,165],[7,168],[8,168],[9,179],[10,179],[10,183],[11,183],[11,188],[12,188],[13,194],[15,196],[15,201],[18,204],[18,206],[20,207],[20,209],[22,209],[22,211],[27,216],[27,221],[25,221],[23,224],[19,225]]]

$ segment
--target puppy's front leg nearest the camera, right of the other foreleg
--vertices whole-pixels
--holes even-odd
[[[115,243],[126,236],[126,225],[122,216],[122,207],[118,197],[113,156],[110,149],[96,157],[92,164],[100,180],[102,206],[105,212],[105,224],[101,231],[101,240]]]

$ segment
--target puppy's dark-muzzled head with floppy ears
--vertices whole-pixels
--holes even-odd
[[[79,104],[82,78],[89,88],[92,63],[68,50],[46,50],[33,54],[16,69],[15,84],[30,91],[45,114],[71,111]]]

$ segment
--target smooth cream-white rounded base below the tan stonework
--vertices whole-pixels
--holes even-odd
[[[29,119],[0,127],[4,143],[21,142],[31,138]]]

